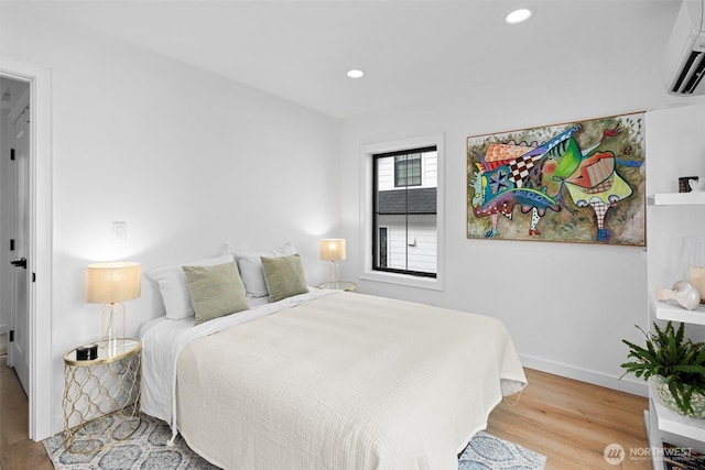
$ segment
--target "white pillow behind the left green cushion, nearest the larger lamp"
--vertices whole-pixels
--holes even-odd
[[[231,263],[235,260],[230,253],[216,258],[189,261],[176,266],[158,267],[149,272],[149,276],[159,283],[159,291],[164,300],[166,317],[172,320],[194,315],[194,307],[191,304],[186,275],[182,266],[214,266],[216,264]]]

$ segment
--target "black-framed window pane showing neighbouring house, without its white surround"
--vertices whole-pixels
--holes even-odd
[[[436,146],[373,155],[372,270],[436,276]]]

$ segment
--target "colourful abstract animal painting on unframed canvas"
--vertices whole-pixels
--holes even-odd
[[[467,138],[467,238],[646,244],[643,112]]]

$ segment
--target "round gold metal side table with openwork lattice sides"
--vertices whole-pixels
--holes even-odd
[[[119,338],[97,341],[97,358],[64,356],[64,447],[93,453],[140,427],[142,342]]]

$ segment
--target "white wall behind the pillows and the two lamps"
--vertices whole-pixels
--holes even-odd
[[[318,239],[338,232],[338,120],[55,19],[4,3],[0,55],[53,80],[53,431],[63,426],[63,356],[95,340],[84,266],[143,270],[291,241],[311,283]],[[111,238],[127,221],[128,239]],[[47,273],[37,273],[47,275]],[[127,332],[160,315],[155,285],[128,302]],[[50,346],[42,346],[50,347]]]

